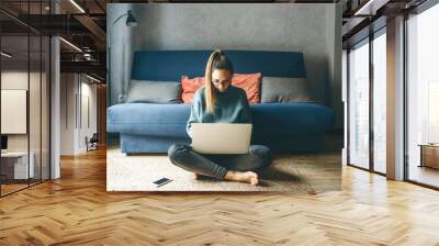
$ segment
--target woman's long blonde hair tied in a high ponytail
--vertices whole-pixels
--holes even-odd
[[[209,57],[205,75],[204,75],[204,87],[205,87],[205,107],[207,112],[214,113],[215,111],[215,86],[212,83],[212,72],[215,69],[228,70],[233,75],[234,69],[232,62],[224,55],[221,49],[215,49]]]

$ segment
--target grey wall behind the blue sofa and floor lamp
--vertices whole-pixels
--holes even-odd
[[[134,51],[256,49],[303,52],[308,81],[319,103],[336,107],[342,127],[341,7],[309,3],[108,4],[108,26],[132,9],[138,26],[125,19],[112,30],[110,104],[126,91]]]

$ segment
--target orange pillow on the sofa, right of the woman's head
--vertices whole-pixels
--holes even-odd
[[[256,74],[234,74],[232,85],[239,87],[246,91],[247,101],[249,103],[258,103],[260,101],[260,81],[262,75]]]

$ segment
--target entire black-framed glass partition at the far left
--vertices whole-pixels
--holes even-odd
[[[21,10],[47,12],[29,3]],[[1,197],[49,178],[49,48],[43,33],[0,13]]]

